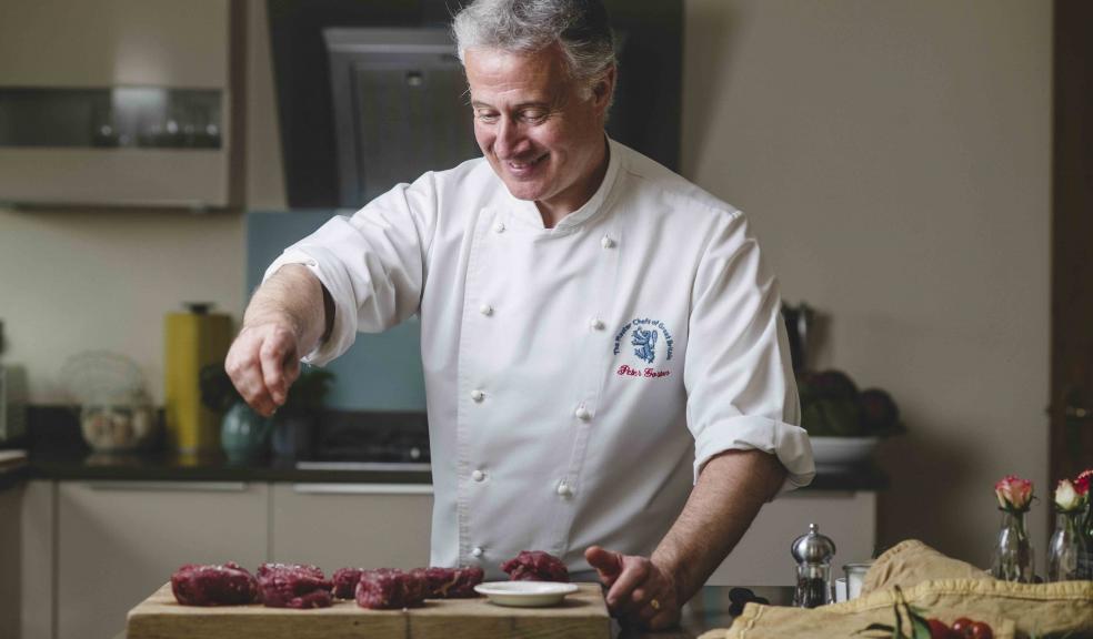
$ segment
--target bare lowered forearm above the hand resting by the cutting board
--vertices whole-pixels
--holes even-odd
[[[676,577],[680,604],[705,584],[785,479],[774,455],[726,450],[710,459],[652,560]]]

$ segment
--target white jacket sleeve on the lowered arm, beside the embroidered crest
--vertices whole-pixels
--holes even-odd
[[[781,318],[778,282],[739,212],[725,215],[700,258],[691,292],[684,384],[694,478],[725,450],[762,450],[788,470],[783,489],[815,476],[812,446]]]

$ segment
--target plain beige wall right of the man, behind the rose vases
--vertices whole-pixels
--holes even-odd
[[[1051,3],[686,9],[684,173],[830,315],[815,364],[896,398],[882,541],[985,566],[993,483],[1047,496]]]

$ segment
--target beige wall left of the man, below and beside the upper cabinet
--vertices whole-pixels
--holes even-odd
[[[263,0],[248,0],[248,175],[252,209],[284,194]],[[237,318],[244,304],[239,213],[162,210],[24,211],[0,207],[0,320],[6,364],[26,367],[31,400],[63,400],[66,357],[107,349],[136,361],[162,402],[163,315],[213,302]]]

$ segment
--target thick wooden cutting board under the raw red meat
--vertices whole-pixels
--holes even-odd
[[[599,584],[550,608],[508,608],[478,599],[430,599],[423,608],[367,610],[355,601],[289,610],[264,606],[179,606],[167,584],[129,611],[127,639],[610,639]]]

